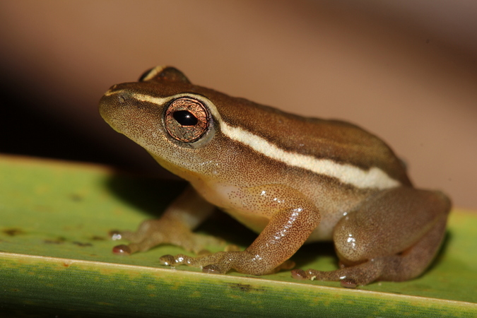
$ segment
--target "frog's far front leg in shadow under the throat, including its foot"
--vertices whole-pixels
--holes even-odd
[[[114,254],[145,252],[160,244],[172,244],[199,253],[206,245],[222,241],[192,232],[213,212],[214,206],[205,201],[192,187],[187,187],[157,220],[146,220],[136,232],[112,231],[112,239],[129,240],[129,245],[117,245]]]

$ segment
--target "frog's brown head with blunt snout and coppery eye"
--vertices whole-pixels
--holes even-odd
[[[99,110],[114,130],[139,143],[167,169],[193,171],[210,161],[210,151],[204,148],[221,120],[203,90],[179,70],[158,66],[138,82],[112,86]]]

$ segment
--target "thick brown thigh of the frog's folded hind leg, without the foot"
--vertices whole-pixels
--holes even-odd
[[[336,225],[333,239],[338,257],[351,265],[404,252],[432,228],[442,227],[449,208],[449,199],[440,192],[408,187],[381,192]],[[439,245],[437,241],[428,245]]]

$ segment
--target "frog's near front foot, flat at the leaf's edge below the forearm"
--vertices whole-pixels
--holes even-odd
[[[264,264],[260,264],[261,261],[254,259],[254,255],[249,254],[247,251],[217,252],[201,257],[189,257],[184,254],[178,254],[176,256],[164,255],[163,257],[160,257],[159,260],[162,265],[177,266],[184,264],[199,267],[204,273],[219,274],[224,274],[230,271],[230,269],[235,269],[240,273],[265,275],[276,273],[281,269],[292,269],[293,266],[295,266],[295,262],[287,260],[271,270],[264,271]]]

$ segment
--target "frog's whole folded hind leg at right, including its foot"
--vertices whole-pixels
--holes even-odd
[[[301,269],[294,278],[341,281],[354,288],[372,281],[419,276],[437,254],[450,201],[440,192],[399,188],[379,194],[336,226],[335,247],[343,268]]]

